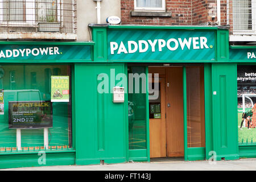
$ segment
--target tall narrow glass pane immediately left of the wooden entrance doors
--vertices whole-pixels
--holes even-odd
[[[143,93],[146,85],[143,84],[143,74],[146,72],[145,67],[129,67],[128,73],[142,74],[139,81],[133,78],[133,90],[128,94],[128,115],[129,115],[129,149],[146,149],[146,93]],[[146,80],[146,75],[144,75]],[[131,82],[128,79],[128,87],[131,88]],[[135,88],[139,86],[138,88]],[[135,91],[136,89],[139,92]]]

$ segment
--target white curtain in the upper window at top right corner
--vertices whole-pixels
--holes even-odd
[[[251,0],[233,0],[233,29],[251,30]]]

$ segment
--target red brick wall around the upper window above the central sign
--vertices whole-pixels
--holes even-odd
[[[224,1],[222,1],[224,3]],[[131,16],[134,0],[121,0],[122,24],[144,25],[197,25],[207,24],[216,16],[216,0],[166,0],[166,12],[172,17]],[[224,14],[225,10],[222,10]]]

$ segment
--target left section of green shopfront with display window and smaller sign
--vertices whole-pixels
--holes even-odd
[[[75,65],[92,61],[94,43],[0,44],[0,168],[75,164]]]

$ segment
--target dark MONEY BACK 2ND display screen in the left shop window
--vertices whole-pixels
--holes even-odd
[[[50,101],[10,101],[9,128],[37,129],[52,127]]]

